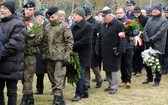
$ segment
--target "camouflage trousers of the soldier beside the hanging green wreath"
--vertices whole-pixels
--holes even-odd
[[[66,67],[62,67],[61,61],[47,61],[47,73],[52,84],[53,95],[63,96]]]

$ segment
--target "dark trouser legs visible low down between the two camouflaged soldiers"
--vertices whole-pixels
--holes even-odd
[[[36,74],[37,76],[37,83],[36,83],[36,89],[38,91],[43,91],[44,89],[44,74]]]

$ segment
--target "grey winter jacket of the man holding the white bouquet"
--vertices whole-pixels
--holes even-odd
[[[165,53],[166,37],[167,37],[167,19],[161,14],[148,19],[144,28],[144,42],[158,50],[161,54]]]

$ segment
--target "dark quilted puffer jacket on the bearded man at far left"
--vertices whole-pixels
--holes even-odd
[[[3,51],[0,78],[19,80],[23,77],[26,26],[15,14],[1,21]]]

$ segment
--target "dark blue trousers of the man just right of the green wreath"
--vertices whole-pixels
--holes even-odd
[[[76,86],[76,95],[82,96],[83,94],[88,94],[88,87],[85,80],[85,67],[81,67],[81,78],[77,82]]]

